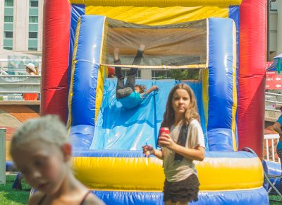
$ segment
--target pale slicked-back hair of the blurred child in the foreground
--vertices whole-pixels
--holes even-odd
[[[20,144],[32,143],[35,140],[57,146],[69,143],[68,132],[59,117],[56,115],[45,115],[44,117],[27,120],[13,134],[10,152],[12,153],[16,150]]]

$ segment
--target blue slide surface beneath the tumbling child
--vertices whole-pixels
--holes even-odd
[[[159,87],[159,92],[150,93],[140,106],[128,110],[116,101],[116,79],[106,79],[104,98],[91,149],[142,150],[142,146],[146,143],[156,146],[169,91],[179,81],[137,79],[136,82],[137,84],[144,84],[148,89],[156,84]],[[201,83],[188,81],[183,83],[188,84],[195,90],[196,98],[200,99],[198,100],[198,107],[202,107]],[[200,112],[203,112],[202,109]],[[203,123],[202,125],[204,125]]]

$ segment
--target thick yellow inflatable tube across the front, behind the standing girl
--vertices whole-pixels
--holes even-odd
[[[197,162],[200,190],[234,190],[262,187],[259,158],[205,158]],[[161,191],[162,161],[157,158],[73,158],[76,177],[90,189]]]

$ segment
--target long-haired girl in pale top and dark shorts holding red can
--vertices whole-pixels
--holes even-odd
[[[153,154],[164,160],[164,203],[186,205],[197,201],[200,183],[193,160],[204,160],[204,134],[190,87],[185,84],[173,87],[161,127],[170,129],[170,134],[159,136],[161,150],[152,146],[142,148],[146,156]]]

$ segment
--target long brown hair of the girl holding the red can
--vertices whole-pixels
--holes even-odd
[[[164,120],[161,122],[161,127],[171,127],[174,124],[174,110],[172,106],[173,94],[177,89],[184,89],[190,96],[190,104],[185,112],[185,124],[189,124],[192,119],[197,119],[200,122],[200,117],[197,112],[197,100],[195,98],[193,90],[186,84],[180,83],[171,89],[168,95],[168,101],[166,102],[166,112],[164,112]]]

